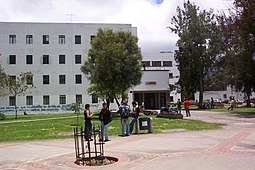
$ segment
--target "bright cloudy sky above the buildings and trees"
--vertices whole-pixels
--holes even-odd
[[[217,13],[232,0],[190,0]],[[184,0],[0,0],[0,22],[123,23],[137,27],[143,53],[176,49],[168,26]],[[1,28],[0,28],[1,29]]]

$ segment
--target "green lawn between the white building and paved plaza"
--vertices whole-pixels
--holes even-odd
[[[222,127],[221,124],[190,119],[171,120],[155,116],[152,116],[152,119],[153,133],[162,133],[162,130],[169,129],[209,130]],[[93,115],[92,123],[96,127],[99,126],[98,113]],[[76,124],[77,117],[73,113],[30,114],[18,116],[18,119],[14,119],[14,116],[6,116],[6,120],[0,121],[0,142],[71,138]],[[79,124],[84,125],[82,114],[79,115]],[[118,115],[114,115],[113,121],[109,124],[109,134],[117,136],[120,133],[120,118]]]

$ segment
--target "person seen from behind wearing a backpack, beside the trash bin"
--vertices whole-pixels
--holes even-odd
[[[127,99],[124,99],[122,105],[119,107],[120,111],[120,120],[121,120],[121,136],[129,136],[130,135],[130,127],[128,122],[128,117],[130,116],[130,107],[127,104]],[[126,126],[126,131],[125,131]]]

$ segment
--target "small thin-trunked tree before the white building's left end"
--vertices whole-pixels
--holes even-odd
[[[7,75],[3,82],[5,90],[15,98],[15,119],[17,119],[17,96],[24,95],[28,89],[34,88],[33,74],[25,72],[21,73],[18,77]]]

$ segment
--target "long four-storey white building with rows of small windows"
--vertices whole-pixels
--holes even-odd
[[[98,28],[137,34],[130,24],[0,22],[1,66],[11,76],[31,71],[36,87],[25,96],[0,98],[0,109],[13,112],[15,102],[28,111],[54,111],[75,102],[100,108],[80,71]]]

